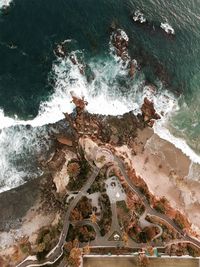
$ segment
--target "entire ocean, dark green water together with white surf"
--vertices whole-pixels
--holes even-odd
[[[155,131],[200,163],[199,1],[0,0],[0,7],[0,192],[41,175],[36,158],[51,146],[46,125],[72,111],[71,90],[85,96],[90,112],[120,115],[137,112],[145,85],[156,86],[164,116]],[[133,21],[136,10],[148,23]],[[134,80],[112,56],[112,22],[129,36],[141,69]],[[87,77],[55,56],[64,40]]]

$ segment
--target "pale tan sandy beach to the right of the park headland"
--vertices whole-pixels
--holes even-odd
[[[200,235],[200,181],[188,177],[191,161],[181,150],[161,139],[151,129],[138,132],[136,155],[126,147],[128,161],[147,183],[150,191],[165,196],[172,207],[183,212]]]

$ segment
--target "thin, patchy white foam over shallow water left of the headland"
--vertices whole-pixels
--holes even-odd
[[[43,158],[50,142],[45,128],[4,128],[0,133],[0,192],[41,175],[37,159]]]

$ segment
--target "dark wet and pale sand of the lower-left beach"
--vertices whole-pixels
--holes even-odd
[[[0,195],[0,255],[12,255],[13,246],[23,237],[33,244],[43,226],[53,224],[55,213],[44,213],[40,179]],[[10,246],[10,248],[9,248]]]

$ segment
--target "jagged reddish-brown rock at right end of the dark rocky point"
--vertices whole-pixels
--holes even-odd
[[[161,118],[160,115],[156,113],[153,102],[150,101],[147,97],[144,98],[144,103],[141,107],[141,111],[145,122],[150,122],[152,119],[158,120]]]

